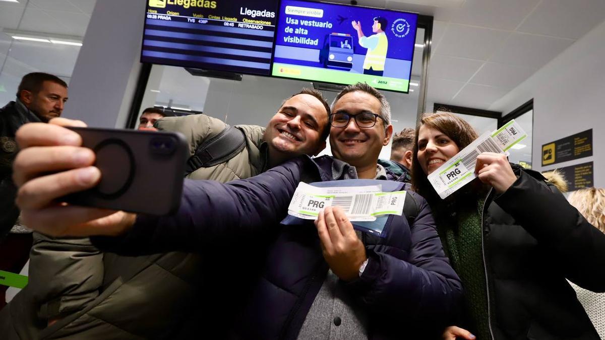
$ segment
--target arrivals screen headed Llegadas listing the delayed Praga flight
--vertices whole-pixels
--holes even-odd
[[[141,62],[270,75],[276,0],[148,0]]]

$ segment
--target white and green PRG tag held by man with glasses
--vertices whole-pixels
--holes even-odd
[[[374,221],[378,215],[402,215],[405,191],[382,192],[381,185],[316,187],[299,183],[288,214],[316,220],[329,206],[340,207],[350,221]]]

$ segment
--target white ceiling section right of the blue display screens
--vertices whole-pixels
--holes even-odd
[[[441,5],[417,7],[435,19],[427,102],[485,110],[605,19],[603,0]]]

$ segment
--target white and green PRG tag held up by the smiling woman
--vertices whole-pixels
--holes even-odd
[[[521,142],[527,134],[514,120],[492,132],[486,132],[466,146],[438,169],[428,175],[439,197],[446,198],[462,188],[475,175],[475,163],[481,152],[507,153],[513,145]]]

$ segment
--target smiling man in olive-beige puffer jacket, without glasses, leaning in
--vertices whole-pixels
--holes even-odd
[[[230,159],[194,169],[187,177],[226,182],[260,174],[298,155],[316,155],[325,148],[325,139],[330,131],[329,113],[329,104],[322,94],[304,88],[282,102],[266,128],[235,126],[243,134],[245,146]],[[189,154],[194,155],[200,145],[217,138],[227,125],[214,117],[195,114],[165,117],[155,122],[155,127],[160,131],[181,132],[189,145]],[[158,180],[162,180],[161,175]],[[254,244],[240,244],[242,248],[246,246],[255,247]],[[220,252],[221,247],[209,246],[206,253]],[[33,247],[27,293],[35,296],[38,304],[41,304],[38,316],[47,319],[50,324],[85,307],[100,304],[103,302],[101,299],[106,300],[103,308],[91,310],[97,319],[87,323],[85,332],[80,333],[82,337],[97,336],[94,332],[106,332],[105,327],[114,329],[113,321],[120,317],[120,311],[136,309],[140,304],[146,304],[148,308],[139,310],[137,316],[133,316],[133,322],[120,332],[146,338],[159,333],[180,332],[181,336],[188,337],[200,327],[200,320],[218,327],[221,322],[232,318],[237,304],[241,304],[243,290],[234,290],[225,295],[218,292],[234,288],[232,286],[237,283],[237,276],[241,273],[233,273],[228,267],[235,266],[239,261],[239,257],[230,257],[229,254],[217,262],[207,261],[197,253],[181,252],[123,257],[116,253],[100,252],[90,244],[88,238],[47,238],[41,235]],[[204,280],[200,267],[212,273],[214,279]],[[163,279],[159,279],[159,276],[163,276]],[[119,286],[115,283],[117,278],[122,281]],[[116,292],[100,298],[100,291],[107,290],[111,285],[116,286],[112,287],[116,288]],[[200,287],[217,293],[203,296]],[[137,294],[132,294],[133,291]],[[24,299],[25,293],[22,295],[16,300]],[[219,300],[219,296],[223,297]],[[13,305],[18,303],[15,301]],[[214,313],[204,317],[189,313],[201,303],[212,306]],[[171,317],[166,318],[164,313],[159,312],[160,309],[171,310]],[[98,313],[95,314],[96,310],[111,312],[116,316],[99,317]],[[71,326],[67,324],[61,327],[68,332]],[[34,329],[31,322],[30,329]],[[114,331],[118,332],[116,329]],[[103,336],[106,335],[103,333]]]

